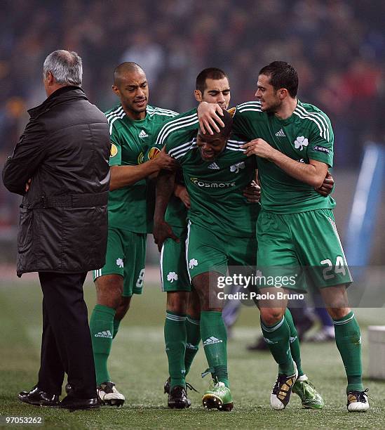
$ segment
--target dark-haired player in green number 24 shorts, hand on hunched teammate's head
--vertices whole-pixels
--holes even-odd
[[[360,328],[346,296],[352,278],[332,213],[335,200],[314,190],[332,167],[334,135],[327,115],[299,101],[296,94],[294,67],[275,61],[259,72],[257,101],[238,105],[234,115],[235,131],[250,141],[243,145],[245,154],[258,157],[262,211],[257,222],[257,263],[268,273],[278,265],[311,267],[310,278],[320,288],[335,324],[337,348],[348,379],[347,408],[349,412],[366,411],[369,403],[361,377]],[[201,108],[213,110],[211,105]],[[219,107],[215,110],[221,111]],[[208,116],[202,126],[210,129],[209,124],[219,117]],[[293,288],[303,289],[304,285]],[[269,301],[265,305],[261,306],[262,333],[278,363],[271,405],[283,409],[297,379],[289,348],[290,330],[283,316],[286,303],[274,308]]]

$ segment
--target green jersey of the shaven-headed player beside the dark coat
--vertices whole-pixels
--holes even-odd
[[[128,118],[121,105],[105,112],[111,135],[110,166],[136,166],[144,162],[144,153],[154,142],[159,129],[177,115],[172,110],[147,105],[144,119],[134,121]],[[149,158],[152,157],[151,152]],[[149,189],[147,180],[119,188],[109,193],[109,226],[134,233],[152,231],[154,204],[147,201]]]

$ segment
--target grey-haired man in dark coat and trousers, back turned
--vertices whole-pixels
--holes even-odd
[[[50,53],[43,65],[48,98],[8,158],[4,185],[23,196],[17,273],[39,272],[43,336],[39,380],[20,400],[68,409],[98,406],[83,282],[104,265],[107,246],[109,129],[80,88],[81,58]],[[65,372],[71,390],[59,403]]]

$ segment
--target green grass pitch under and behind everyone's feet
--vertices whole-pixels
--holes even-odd
[[[89,311],[95,303],[91,282],[85,286]],[[207,367],[203,348],[187,380],[201,393],[189,391],[189,410],[168,410],[163,382],[167,360],[163,346],[166,296],[158,285],[147,284],[142,297],[135,296],[110,358],[110,373],[119,391],[126,395],[123,408],[97,411],[34,408],[20,403],[17,393],[30,389],[39,370],[41,340],[41,290],[37,282],[0,282],[0,415],[42,416],[47,429],[379,429],[385,426],[385,382],[365,379],[370,389],[370,412],[346,411],[344,367],[334,344],[302,345],[304,370],[325,399],[322,411],[303,410],[292,395],[288,408],[273,411],[269,396],[276,379],[276,364],[269,353],[252,353],[245,345],[259,334],[259,315],[243,308],[229,341],[229,376],[234,397],[232,412],[203,410],[201,394],[209,379],[201,379]],[[363,332],[363,366],[367,370],[367,325],[384,324],[384,309],[356,311]],[[0,424],[1,427],[1,424]],[[9,427],[9,426],[8,426]],[[6,426],[1,428],[8,428]]]

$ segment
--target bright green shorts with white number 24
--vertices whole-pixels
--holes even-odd
[[[323,288],[353,282],[331,209],[298,214],[261,211],[257,239],[257,266],[264,282],[266,275],[295,275],[294,282],[276,286],[301,291],[310,283]]]

